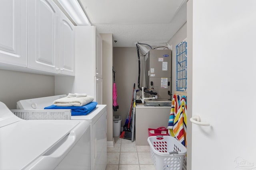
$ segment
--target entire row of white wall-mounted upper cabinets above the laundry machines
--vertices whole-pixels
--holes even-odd
[[[0,68],[75,75],[74,25],[52,0],[2,0],[0,21]]]

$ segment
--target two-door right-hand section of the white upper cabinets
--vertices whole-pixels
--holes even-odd
[[[74,76],[74,25],[50,0],[28,3],[28,67]]]

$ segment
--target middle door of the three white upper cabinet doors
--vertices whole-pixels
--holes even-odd
[[[28,66],[56,71],[58,7],[51,0],[28,1]]]

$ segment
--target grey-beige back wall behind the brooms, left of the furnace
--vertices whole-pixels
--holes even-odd
[[[135,88],[138,89],[138,55],[136,47],[114,47],[113,58],[113,66],[116,70],[117,102],[119,105],[119,109],[114,111],[113,115],[122,117],[121,124],[123,126],[129,113],[134,83],[136,84]],[[140,62],[140,80],[143,80],[145,78],[144,60],[141,58]],[[142,83],[140,85],[143,86]]]

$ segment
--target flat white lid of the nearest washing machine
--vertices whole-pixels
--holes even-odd
[[[82,121],[28,120],[0,127],[0,169],[22,169]],[[47,169],[47,165],[45,165]]]

